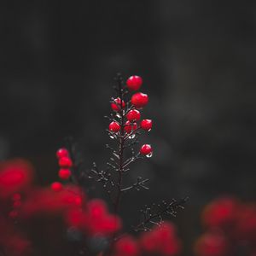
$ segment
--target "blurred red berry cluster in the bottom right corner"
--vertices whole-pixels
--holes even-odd
[[[207,231],[195,243],[196,256],[255,255],[255,204],[220,198],[207,205],[202,222]]]

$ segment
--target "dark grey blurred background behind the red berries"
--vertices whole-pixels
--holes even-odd
[[[49,183],[72,135],[84,165],[102,166],[113,77],[138,74],[154,157],[134,166],[151,190],[127,196],[127,223],[146,202],[189,195],[174,220],[189,255],[202,206],[256,199],[255,1],[11,1],[0,13],[1,160],[31,160]]]

